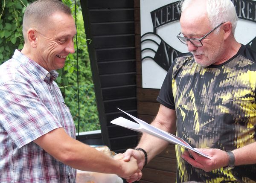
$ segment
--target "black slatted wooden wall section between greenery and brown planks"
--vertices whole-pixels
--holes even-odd
[[[137,132],[112,125],[137,116],[133,0],[81,0],[102,139],[117,153],[137,145]],[[125,116],[127,117],[127,116]]]

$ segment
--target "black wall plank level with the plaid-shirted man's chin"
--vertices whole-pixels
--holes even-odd
[[[98,64],[99,74],[130,73],[136,69],[135,60],[104,61]]]

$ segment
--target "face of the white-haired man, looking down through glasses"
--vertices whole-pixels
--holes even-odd
[[[200,1],[200,6],[198,2]],[[212,30],[206,12],[204,0],[192,3],[181,14],[180,26],[181,33],[187,38],[202,38]],[[221,26],[220,26],[221,27]],[[188,51],[194,55],[195,62],[203,67],[211,64],[218,64],[222,61],[224,54],[224,38],[222,32],[216,30],[202,40],[203,46],[194,46],[188,42]]]

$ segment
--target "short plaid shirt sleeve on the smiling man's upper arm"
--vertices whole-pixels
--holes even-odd
[[[18,148],[62,127],[27,83],[9,81],[1,85],[0,106],[0,125]]]

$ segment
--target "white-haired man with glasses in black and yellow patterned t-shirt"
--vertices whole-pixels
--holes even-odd
[[[181,2],[177,38],[189,53],[170,67],[151,125],[177,129],[178,137],[211,159],[176,145],[177,183],[256,182],[256,53],[236,41],[237,19],[230,0]],[[138,151],[128,149],[124,158],[135,157],[142,168],[167,145],[143,134]]]

